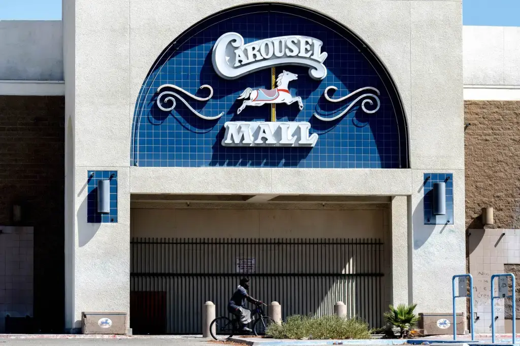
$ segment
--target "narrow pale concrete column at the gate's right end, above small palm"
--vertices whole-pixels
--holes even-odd
[[[392,198],[392,301],[408,304],[408,201]]]

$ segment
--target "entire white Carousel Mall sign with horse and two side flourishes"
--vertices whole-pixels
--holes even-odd
[[[213,46],[213,68],[215,72],[225,79],[236,79],[243,75],[258,70],[272,68],[280,65],[299,65],[309,67],[311,78],[321,80],[327,76],[327,69],[323,61],[327,58],[326,52],[321,52],[323,43],[316,38],[308,36],[280,36],[262,39],[244,45],[241,35],[230,32],[220,36]],[[274,76],[274,69],[272,69]],[[243,100],[237,110],[240,113],[246,106],[261,106],[276,103],[292,104],[298,102],[298,108],[303,110],[303,101],[299,96],[292,96],[289,91],[289,82],[298,79],[298,75],[283,71],[276,79],[276,87],[272,89],[246,88],[237,100]],[[166,90],[163,90],[166,89]],[[157,92],[157,105],[165,112],[171,112],[176,105],[177,98],[183,102],[193,114],[202,119],[214,121],[224,115],[202,115],[193,109],[189,103],[179,94],[198,101],[207,101],[213,96],[213,88],[210,85],[202,85],[200,89],[207,89],[209,96],[198,97],[173,84],[161,85]],[[352,101],[340,114],[332,117],[322,116],[317,113],[313,115],[320,121],[330,122],[343,117],[352,109],[358,101],[365,113],[375,113],[379,110],[380,101],[377,95],[379,90],[373,87],[364,87],[350,94],[333,99],[328,95],[329,90],[337,90],[335,86],[329,86],[324,91],[324,97],[330,102],[341,102],[350,98]],[[362,95],[359,95],[361,94]],[[373,101],[372,101],[373,100]],[[373,110],[366,108],[366,104],[375,107]],[[166,105],[166,103],[169,103]],[[276,120],[276,118],[275,118]],[[318,141],[318,134],[309,134],[310,123],[308,122],[226,122],[226,129],[222,145],[225,147],[314,147]]]

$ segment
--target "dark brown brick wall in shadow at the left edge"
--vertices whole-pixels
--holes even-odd
[[[0,225],[34,227],[34,316],[63,330],[64,98],[0,96]]]

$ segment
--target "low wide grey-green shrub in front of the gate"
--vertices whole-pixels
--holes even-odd
[[[308,317],[295,315],[281,325],[272,324],[266,332],[275,339],[369,339],[368,324],[336,315]]]

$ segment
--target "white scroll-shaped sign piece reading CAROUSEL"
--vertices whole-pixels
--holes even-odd
[[[220,36],[213,46],[213,68],[225,79],[281,65],[309,67],[309,75],[321,80],[327,76],[321,52],[323,42],[309,36],[292,35],[261,39],[244,45],[244,38],[236,32]]]

